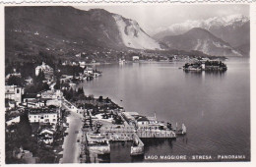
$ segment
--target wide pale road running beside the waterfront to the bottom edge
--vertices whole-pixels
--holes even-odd
[[[77,142],[81,127],[81,116],[75,112],[70,112],[68,116],[69,128],[67,129],[68,135],[63,143],[63,158],[60,163],[79,163],[79,142]]]

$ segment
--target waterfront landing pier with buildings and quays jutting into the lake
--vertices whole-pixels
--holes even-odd
[[[62,107],[78,115],[84,122],[81,125],[81,136],[78,161],[80,163],[100,163],[104,158],[110,160],[110,144],[112,142],[131,142],[130,156],[144,154],[145,144],[141,139],[175,139],[186,134],[186,127],[171,129],[159,122],[155,117],[141,116],[137,112],[125,112],[123,109],[111,111],[122,123],[114,124],[113,118],[103,118],[104,114],[94,115],[93,110],[79,109],[75,104],[64,99]],[[100,118],[102,117],[102,118]]]

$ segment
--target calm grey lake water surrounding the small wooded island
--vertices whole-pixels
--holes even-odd
[[[224,73],[185,73],[178,69],[182,62],[97,66],[102,76],[84,83],[86,94],[110,97],[126,111],[147,116],[156,112],[159,120],[187,127],[182,138],[144,139],[142,157],[131,157],[116,143],[110,161],[197,161],[192,155],[212,155],[210,161],[219,161],[217,155],[244,155],[242,160],[250,160],[249,59],[231,58],[225,63]],[[150,155],[158,159],[147,159]],[[160,159],[160,155],[188,158]]]

